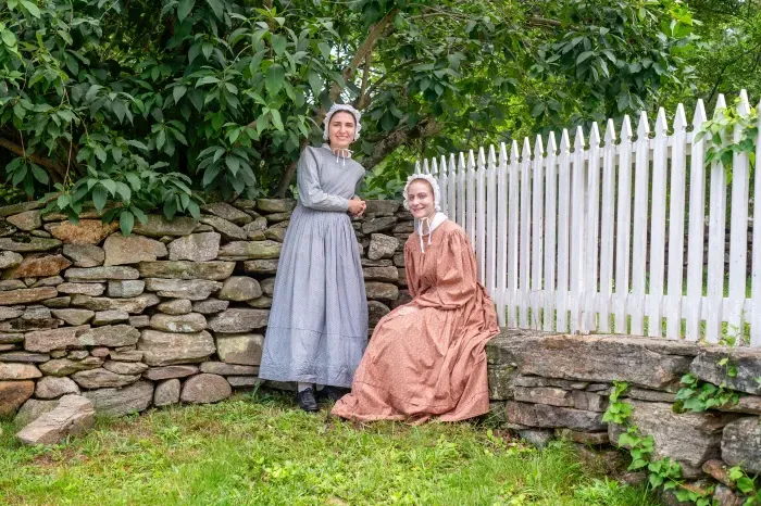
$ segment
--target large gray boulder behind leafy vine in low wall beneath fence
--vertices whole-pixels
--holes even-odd
[[[656,458],[665,456],[682,465],[685,478],[702,476],[701,466],[706,460],[719,458],[722,429],[736,418],[734,415],[714,413],[676,414],[671,404],[628,401],[632,404],[631,422],[644,435],[652,435]],[[625,431],[619,425],[609,423],[608,437],[617,444]]]

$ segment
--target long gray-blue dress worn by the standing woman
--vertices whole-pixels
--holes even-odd
[[[286,231],[259,377],[351,387],[367,345],[367,303],[347,214],[364,168],[327,144],[298,165],[299,204]]]

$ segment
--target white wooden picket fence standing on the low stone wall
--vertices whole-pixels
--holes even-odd
[[[725,106],[719,97],[716,109]],[[749,111],[745,91],[738,109]],[[473,242],[501,326],[712,343],[734,336],[738,344],[749,331],[749,344],[761,346],[761,177],[754,177],[749,244],[748,156],[735,153],[727,187],[719,163],[706,167],[708,141],[694,142],[706,118],[700,101],[691,131],[679,104],[672,132],[659,111],[654,137],[643,112],[634,141],[625,116],[620,142],[609,119],[602,143],[592,124],[588,143],[579,127],[573,144],[563,130],[560,149],[550,134],[547,149],[537,136],[533,152],[526,138],[521,151],[513,141],[423,161],[420,169],[439,181],[442,211]],[[758,174],[761,139],[756,146]]]

